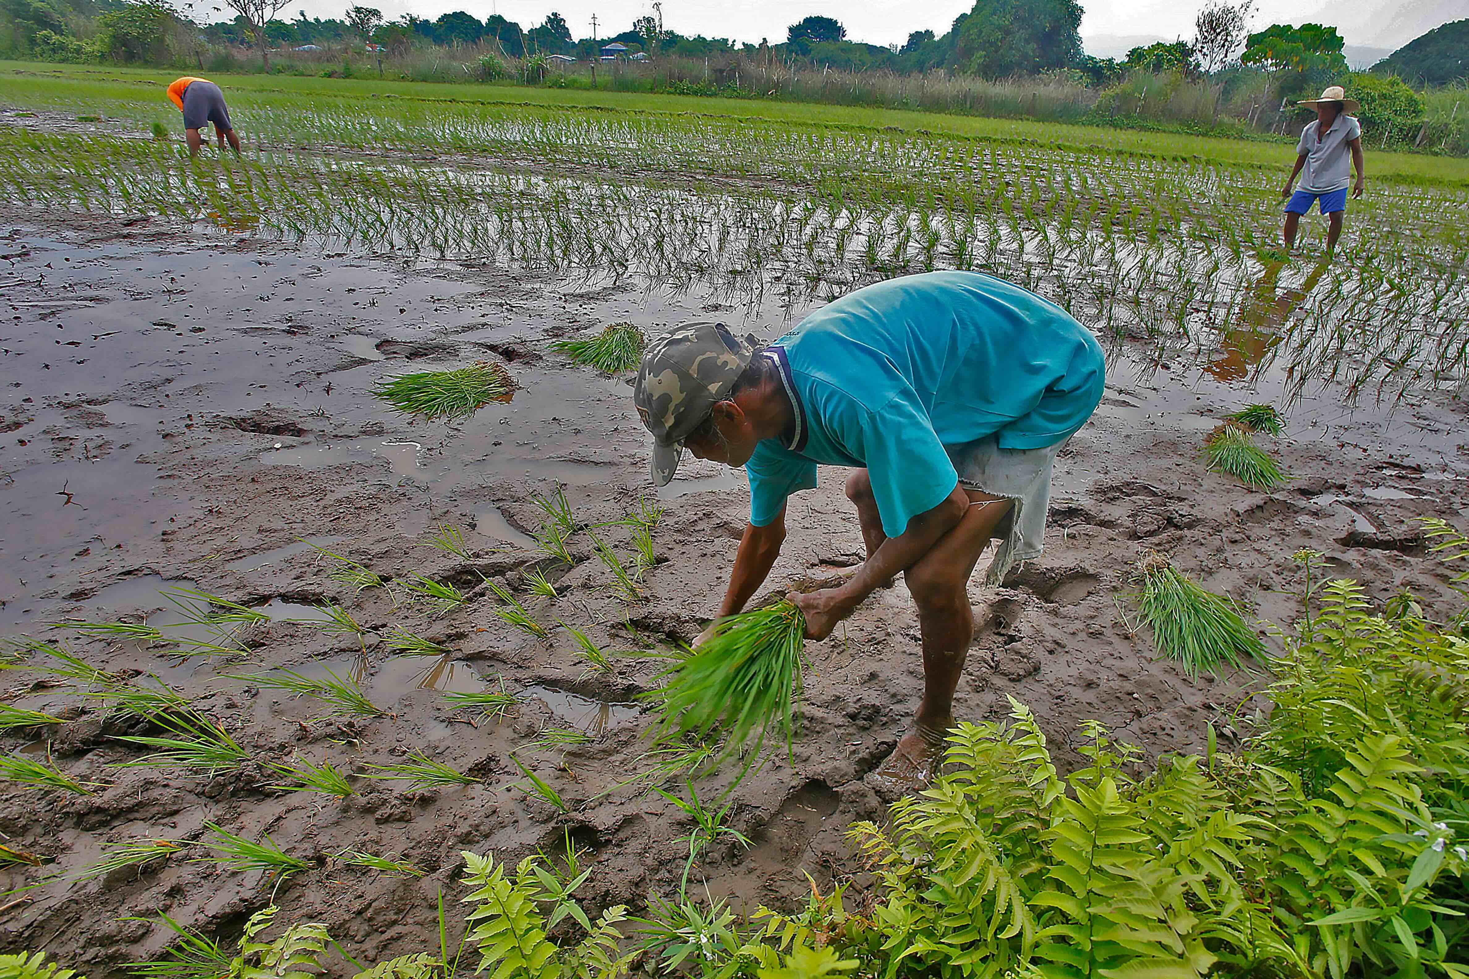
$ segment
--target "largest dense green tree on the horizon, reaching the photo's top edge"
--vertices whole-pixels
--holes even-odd
[[[953,25],[953,63],[984,78],[1066,68],[1081,54],[1077,0],[975,0]]]

